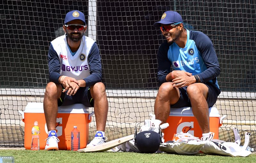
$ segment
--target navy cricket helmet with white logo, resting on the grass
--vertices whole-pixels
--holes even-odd
[[[161,143],[161,136],[155,131],[142,131],[134,139],[138,149],[143,153],[155,153]]]

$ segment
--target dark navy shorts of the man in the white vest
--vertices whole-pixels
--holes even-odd
[[[62,88],[63,90],[64,88]],[[84,104],[87,107],[93,107],[94,99],[90,93],[90,87],[80,87],[75,95],[68,96],[67,92],[62,92],[58,99],[58,106],[67,106],[72,104]]]

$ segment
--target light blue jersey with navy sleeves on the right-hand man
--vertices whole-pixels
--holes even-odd
[[[187,30],[187,29],[186,29]],[[166,82],[170,67],[198,75],[201,82],[211,82],[219,88],[217,76],[220,66],[210,38],[202,32],[187,30],[187,43],[180,48],[176,43],[162,43],[157,53],[160,84]]]

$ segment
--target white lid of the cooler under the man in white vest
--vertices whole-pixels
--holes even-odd
[[[24,113],[44,113],[43,103],[28,103]],[[83,104],[59,106],[58,113],[88,113],[88,107]]]

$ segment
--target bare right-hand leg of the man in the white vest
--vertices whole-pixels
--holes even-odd
[[[94,98],[94,114],[98,131],[104,131],[108,115],[108,100],[105,85],[102,82],[95,83],[90,87],[92,98]]]

